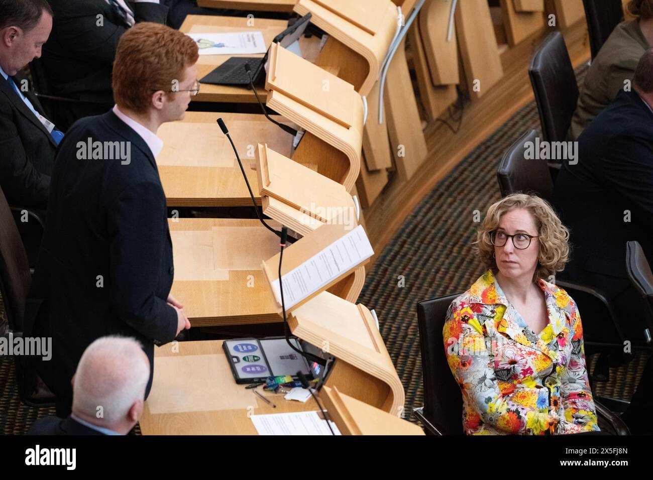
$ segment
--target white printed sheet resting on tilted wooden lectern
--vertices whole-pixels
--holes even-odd
[[[342,276],[374,255],[372,244],[362,225],[338,238],[317,255],[282,277],[286,310]],[[279,279],[272,282],[272,292],[281,305]]]

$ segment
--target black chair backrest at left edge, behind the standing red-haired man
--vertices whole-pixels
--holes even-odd
[[[22,332],[31,274],[14,216],[0,189],[0,289],[9,328]]]

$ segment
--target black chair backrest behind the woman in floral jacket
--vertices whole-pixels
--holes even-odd
[[[460,293],[417,304],[424,379],[424,416],[442,435],[462,435],[462,394],[449,369],[442,328],[449,305]]]

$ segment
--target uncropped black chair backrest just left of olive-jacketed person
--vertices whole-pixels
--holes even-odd
[[[553,32],[537,48],[528,68],[535,102],[542,124],[542,136],[548,142],[564,142],[579,91],[564,37]]]

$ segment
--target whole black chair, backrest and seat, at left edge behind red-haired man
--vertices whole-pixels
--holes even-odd
[[[0,293],[2,293],[8,328],[3,336],[16,338],[22,336],[25,302],[31,274],[27,253],[18,234],[14,217],[0,189]],[[23,357],[14,357],[18,393],[21,400],[29,406],[52,406],[54,395],[43,383],[38,374],[24,365]]]

